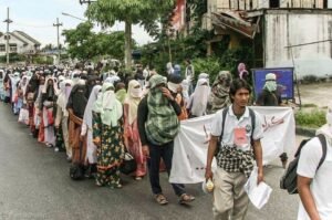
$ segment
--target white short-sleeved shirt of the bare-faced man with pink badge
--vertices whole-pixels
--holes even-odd
[[[258,113],[255,112],[256,115],[256,122],[255,122],[255,130],[252,138],[255,140],[261,139],[263,137],[263,128],[260,121],[260,117],[258,116]],[[234,129],[235,128],[246,128],[246,136],[248,143],[240,147],[242,150],[249,150],[250,149],[250,139],[251,139],[251,118],[249,114],[249,108],[246,107],[245,114],[240,117],[240,119],[237,118],[237,116],[232,112],[232,105],[229,106],[228,113],[226,114],[226,122],[225,122],[225,130],[222,134],[222,145],[234,145]],[[222,109],[219,109],[216,113],[216,116],[211,124],[211,135],[212,136],[220,136],[222,130]]]

